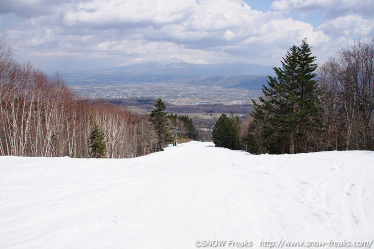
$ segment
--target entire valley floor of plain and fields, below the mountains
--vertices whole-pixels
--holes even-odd
[[[222,114],[246,117],[252,109],[252,99],[257,100],[261,90],[226,88],[222,86],[195,86],[180,83],[133,83],[100,85],[97,83],[69,85],[82,98],[110,99],[112,103],[126,105],[133,112],[149,115],[155,100],[161,98],[169,113],[188,115],[196,120],[211,120],[214,125]],[[136,100],[140,100],[137,102]]]

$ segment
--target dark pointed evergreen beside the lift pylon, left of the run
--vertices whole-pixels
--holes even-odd
[[[151,111],[151,121],[155,127],[157,140],[158,140],[158,151],[162,151],[165,146],[173,142],[173,136],[171,133],[170,122],[167,117],[166,105],[159,98],[156,101],[155,108]]]

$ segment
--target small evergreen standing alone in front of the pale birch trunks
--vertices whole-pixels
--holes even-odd
[[[90,157],[103,158],[107,151],[107,144],[105,142],[105,135],[102,128],[95,123],[90,132]]]

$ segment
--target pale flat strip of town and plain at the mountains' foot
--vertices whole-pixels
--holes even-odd
[[[128,84],[68,84],[82,98],[162,98],[173,104],[212,102],[235,104],[251,102],[261,90],[225,88],[222,86],[194,86],[181,83],[128,83]]]

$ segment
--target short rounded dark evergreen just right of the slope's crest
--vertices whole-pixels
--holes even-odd
[[[231,113],[230,117],[222,114],[212,130],[212,139],[216,146],[228,149],[239,147],[239,123],[240,119]]]

